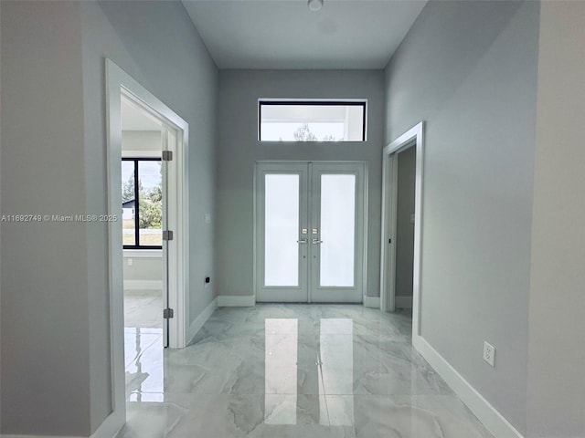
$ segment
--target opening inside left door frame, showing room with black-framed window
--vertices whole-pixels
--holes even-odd
[[[165,125],[122,96],[122,247],[126,361],[142,351],[143,338],[168,347],[168,287],[163,261],[168,203],[162,151]]]

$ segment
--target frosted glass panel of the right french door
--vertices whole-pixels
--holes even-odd
[[[355,234],[356,175],[321,175],[319,286],[354,286]]]

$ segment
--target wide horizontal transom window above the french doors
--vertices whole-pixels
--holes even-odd
[[[261,99],[260,141],[366,141],[366,100]]]

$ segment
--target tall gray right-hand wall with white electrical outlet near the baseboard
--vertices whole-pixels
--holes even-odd
[[[386,141],[426,121],[421,335],[522,433],[538,13],[430,2],[386,72]]]

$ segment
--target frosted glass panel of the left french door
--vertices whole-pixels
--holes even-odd
[[[299,175],[264,180],[264,285],[299,286]]]

